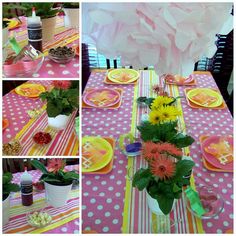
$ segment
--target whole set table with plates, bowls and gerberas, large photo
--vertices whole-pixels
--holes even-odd
[[[137,71],[136,84],[108,85],[109,73],[92,72],[82,98],[86,103],[87,88],[100,91],[95,98],[108,88],[123,90],[116,109],[83,107],[83,232],[231,232],[233,119],[211,74],[193,72],[193,86],[166,83],[166,75],[153,70]],[[182,184],[178,170],[185,176],[178,179]],[[152,190],[152,176],[165,184],[159,193]],[[174,195],[167,185],[172,178],[177,181]],[[160,191],[169,195],[161,199]]]

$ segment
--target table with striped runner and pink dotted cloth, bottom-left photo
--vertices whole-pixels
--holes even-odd
[[[79,165],[67,165],[67,171],[78,170]],[[13,174],[12,182],[20,184],[21,176],[24,172]],[[30,170],[28,174],[32,176],[33,183],[37,183],[42,175],[39,170]],[[33,189],[33,204],[31,206],[23,206],[21,203],[20,192],[11,193],[10,196],[10,220],[3,226],[4,234],[79,234],[80,229],[80,188],[74,185],[70,191],[69,198],[65,206],[54,208],[45,200],[45,190]],[[28,224],[27,215],[35,211],[46,211],[52,216],[49,225],[42,228],[35,228]]]

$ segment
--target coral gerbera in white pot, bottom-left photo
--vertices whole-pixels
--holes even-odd
[[[79,179],[79,174],[75,171],[65,171],[66,162],[59,158],[48,160],[47,168],[38,160],[32,160],[31,164],[43,173],[40,180],[44,182],[48,203],[53,207],[64,206],[68,200],[72,182]]]

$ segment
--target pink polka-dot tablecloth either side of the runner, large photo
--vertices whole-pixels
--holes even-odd
[[[150,71],[142,71],[141,79],[148,78]],[[117,110],[83,109],[82,131],[83,136],[109,136],[117,140],[131,128],[134,85],[105,85],[103,83],[105,73],[93,72],[88,80],[86,88],[115,88],[124,89],[122,105]],[[209,74],[195,74],[197,86],[217,88],[213,78]],[[150,88],[151,89],[151,88]],[[184,87],[179,87],[180,95],[184,96]],[[145,94],[143,94],[145,96]],[[184,120],[188,133],[194,137],[195,143],[190,147],[190,155],[196,165],[194,168],[194,180],[197,186],[208,185],[220,193],[224,199],[222,213],[214,219],[203,220],[202,227],[205,233],[225,233],[233,228],[233,174],[212,172],[203,166],[199,136],[232,135],[233,119],[229,110],[193,109],[187,105],[185,98],[181,99]],[[95,230],[98,233],[121,233],[123,224],[123,211],[127,175],[127,158],[115,148],[114,165],[107,175],[83,174],[83,230]],[[225,183],[225,184],[223,184]],[[138,209],[139,203],[133,202],[131,210]],[[184,205],[182,206],[184,207]],[[141,210],[141,209],[140,209]],[[142,211],[135,215],[133,233],[150,233],[143,231],[140,224],[149,224],[149,219]],[[182,212],[177,215],[181,216]],[[145,221],[143,223],[143,221]],[[140,222],[140,223],[137,223]],[[183,220],[178,227],[178,233],[188,233]],[[133,225],[133,224],[132,224]],[[135,228],[137,227],[137,228]],[[196,231],[196,229],[194,230]]]

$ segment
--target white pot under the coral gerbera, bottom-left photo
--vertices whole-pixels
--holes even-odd
[[[61,207],[66,205],[72,184],[66,186],[57,186],[49,183],[45,185],[45,197],[47,202],[53,207]]]

